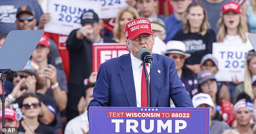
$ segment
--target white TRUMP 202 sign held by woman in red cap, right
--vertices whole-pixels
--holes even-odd
[[[232,81],[235,77],[238,81],[244,81],[244,69],[248,51],[253,49],[251,44],[239,45],[213,43],[213,55],[219,61],[217,81]]]

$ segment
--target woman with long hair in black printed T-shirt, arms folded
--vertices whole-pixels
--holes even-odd
[[[208,27],[206,9],[201,2],[192,2],[185,15],[182,22],[183,29],[176,33],[173,40],[185,43],[186,53],[191,54],[191,57],[186,59],[185,65],[198,74],[202,57],[212,53],[212,43],[216,42],[216,35]]]

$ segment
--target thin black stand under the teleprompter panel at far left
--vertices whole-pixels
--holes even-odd
[[[5,121],[4,121],[4,103],[5,103],[5,97],[4,97],[4,85],[5,85],[5,81],[6,81],[6,78],[4,76],[4,73],[10,73],[11,72],[11,69],[0,69],[0,73],[1,74],[1,77],[0,77],[0,80],[2,81],[2,89],[3,89],[3,94],[2,94],[2,97],[1,97],[1,101],[2,101],[2,130],[5,128]],[[5,134],[5,132],[3,132],[2,134]]]

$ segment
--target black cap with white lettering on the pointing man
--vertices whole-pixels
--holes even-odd
[[[93,10],[88,10],[81,15],[81,24],[83,23],[95,23],[99,21],[98,15]]]

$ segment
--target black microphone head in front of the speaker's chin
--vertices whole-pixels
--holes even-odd
[[[149,51],[149,49],[141,48],[139,50],[138,56],[139,56],[141,61],[152,64],[153,57],[152,57],[151,52]]]

